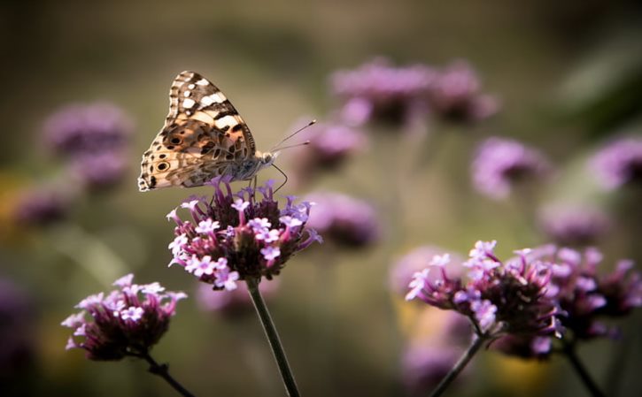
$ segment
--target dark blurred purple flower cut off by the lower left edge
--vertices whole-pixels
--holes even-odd
[[[9,394],[11,389],[24,390],[17,383],[35,363],[34,322],[27,293],[10,279],[0,278],[0,388]]]

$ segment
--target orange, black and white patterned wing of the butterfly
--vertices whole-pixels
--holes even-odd
[[[138,187],[202,186],[255,153],[250,128],[232,103],[209,80],[185,71],[169,90],[165,126],[143,153]]]

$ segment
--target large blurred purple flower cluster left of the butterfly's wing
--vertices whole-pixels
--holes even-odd
[[[112,187],[128,169],[132,123],[109,103],[70,105],[44,125],[44,140],[65,157],[70,173],[89,189]]]

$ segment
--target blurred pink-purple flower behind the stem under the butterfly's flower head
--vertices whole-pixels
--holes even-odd
[[[259,284],[259,291],[268,300],[276,294],[279,280],[264,280]],[[235,317],[253,312],[250,293],[245,283],[239,283],[238,288],[231,291],[213,292],[212,286],[198,283],[197,302],[206,311],[215,311],[225,316]]]

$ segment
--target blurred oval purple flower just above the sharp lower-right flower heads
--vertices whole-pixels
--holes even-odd
[[[539,224],[554,242],[587,246],[607,233],[611,221],[607,214],[595,208],[555,206],[540,211]]]

